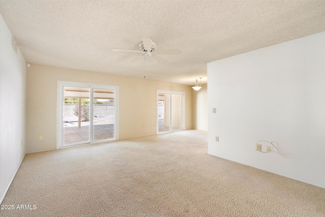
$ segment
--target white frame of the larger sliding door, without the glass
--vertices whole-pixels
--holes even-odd
[[[63,99],[64,99],[64,86],[71,86],[71,87],[84,87],[89,88],[89,102],[92,102],[93,96],[92,92],[93,89],[113,89],[114,90],[114,138],[107,139],[107,140],[100,140],[100,141],[93,141],[93,111],[92,106],[89,106],[89,143],[77,144],[77,145],[66,145],[62,146],[63,144],[63,127],[62,127],[62,106],[63,106]],[[56,149],[60,148],[67,148],[79,145],[88,145],[88,144],[95,144],[95,143],[102,143],[108,141],[115,141],[118,140],[118,86],[113,85],[102,85],[102,84],[90,84],[90,83],[81,83],[81,82],[71,82],[71,81],[57,81],[57,94],[56,94]],[[92,103],[89,105],[93,105]]]

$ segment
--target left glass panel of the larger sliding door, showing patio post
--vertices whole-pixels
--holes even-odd
[[[63,146],[89,143],[89,88],[63,87]]]

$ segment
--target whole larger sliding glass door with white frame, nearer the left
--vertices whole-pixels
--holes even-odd
[[[58,81],[57,148],[117,140],[116,86]]]

